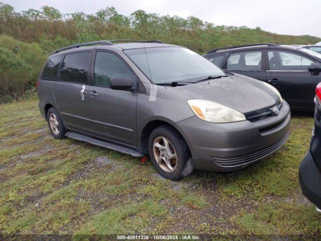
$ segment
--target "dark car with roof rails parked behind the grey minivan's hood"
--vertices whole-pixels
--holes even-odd
[[[273,85],[294,110],[312,111],[321,81],[321,54],[296,45],[251,44],[203,55],[224,70]]]

